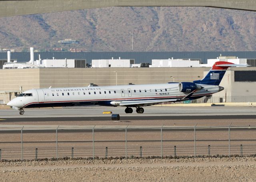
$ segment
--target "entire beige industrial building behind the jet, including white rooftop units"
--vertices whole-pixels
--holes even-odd
[[[23,69],[0,70],[0,103],[6,104],[16,94],[32,88],[77,87],[91,83],[99,86],[124,84],[151,84],[166,82],[192,82],[206,75],[216,61],[235,64],[249,62],[253,67],[229,68],[220,83],[225,90],[206,98],[205,102],[256,102],[255,59],[222,56],[200,64],[200,59],[152,59],[151,67],[134,64],[134,59],[92,60],[92,68],[86,68],[86,60],[43,59],[34,61],[33,50],[30,61],[13,63],[8,53],[7,65],[20,65]],[[12,66],[16,68],[16,66]],[[26,69],[24,69],[26,68]]]

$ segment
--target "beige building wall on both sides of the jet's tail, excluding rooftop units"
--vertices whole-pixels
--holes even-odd
[[[208,72],[209,67],[192,68],[32,68],[0,70],[0,92],[29,90],[32,88],[78,87],[90,83],[99,86],[117,84],[150,84],[167,82],[192,82],[200,80]],[[256,67],[231,68],[226,71],[220,86],[225,90],[213,95],[214,102],[248,102],[255,98],[255,82],[234,82],[234,70],[256,70]],[[171,78],[171,76],[173,76]],[[14,97],[14,94],[12,95]],[[6,95],[8,102],[9,95]],[[239,99],[239,100],[238,100]],[[0,95],[4,100],[4,95]],[[252,102],[252,101],[251,101]]]

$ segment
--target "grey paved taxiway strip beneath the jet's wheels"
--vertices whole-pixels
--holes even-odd
[[[49,109],[25,109],[20,115],[17,110],[0,110],[2,122],[30,122],[30,121],[109,121],[111,114],[102,114],[111,111],[120,114],[121,120],[198,120],[198,119],[256,119],[256,108],[214,106],[214,107],[175,107],[175,106],[148,106],[144,114],[124,113],[124,107],[66,107]]]

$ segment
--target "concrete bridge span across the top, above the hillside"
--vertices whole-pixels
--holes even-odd
[[[255,0],[0,0],[0,17],[110,6],[208,6],[256,10]]]

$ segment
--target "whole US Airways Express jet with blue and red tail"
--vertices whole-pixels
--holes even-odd
[[[228,67],[246,66],[219,61],[214,63],[202,80],[193,82],[140,84],[120,86],[94,86],[76,88],[32,89],[8,102],[8,106],[24,114],[24,108],[56,106],[124,106],[126,113],[143,113],[142,106],[161,102],[181,102],[210,96],[224,90],[219,86]]]

